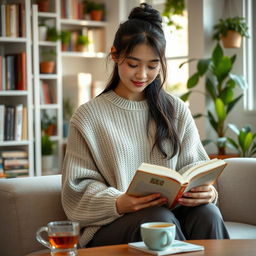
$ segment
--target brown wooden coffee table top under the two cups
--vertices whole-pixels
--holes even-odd
[[[189,240],[189,243],[203,245],[204,251],[179,253],[178,256],[255,256],[256,239],[252,240]],[[132,248],[127,244],[101,246],[78,250],[78,256],[133,256],[150,255]],[[38,254],[36,256],[50,256]]]

